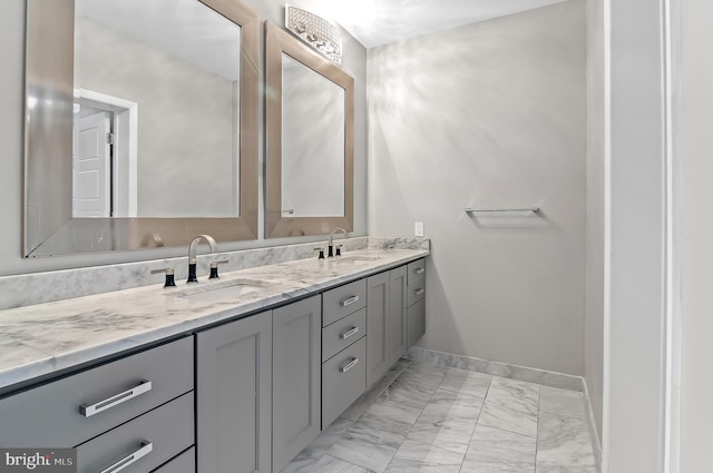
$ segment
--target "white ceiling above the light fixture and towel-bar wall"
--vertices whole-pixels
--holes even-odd
[[[564,0],[294,0],[373,48]]]

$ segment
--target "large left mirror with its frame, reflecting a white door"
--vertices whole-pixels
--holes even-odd
[[[256,238],[257,13],[27,6],[23,255]]]

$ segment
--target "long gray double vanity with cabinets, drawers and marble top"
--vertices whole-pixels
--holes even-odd
[[[1,311],[23,343],[0,353],[0,446],[77,447],[79,472],[276,473],[423,335],[428,254]]]

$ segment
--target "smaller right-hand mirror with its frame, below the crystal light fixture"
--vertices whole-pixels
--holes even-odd
[[[353,228],[354,79],[265,22],[268,238]]]

